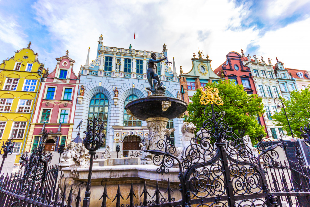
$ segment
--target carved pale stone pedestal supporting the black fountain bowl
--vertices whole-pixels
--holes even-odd
[[[152,117],[147,118],[145,121],[148,123],[149,134],[144,140],[145,144],[142,150],[159,150],[157,141],[164,139],[165,129],[169,120],[166,117]],[[153,155],[142,151],[141,164],[153,164]]]

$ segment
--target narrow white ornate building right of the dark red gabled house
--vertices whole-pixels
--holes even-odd
[[[267,128],[267,136],[269,138],[279,139],[281,138],[280,131],[283,131],[283,129],[274,124],[271,116],[278,110],[281,110],[281,108],[277,108],[274,99],[279,96],[281,96],[281,98],[284,97],[281,93],[279,81],[277,80],[272,65],[271,63],[267,64],[264,61],[259,62],[256,58],[253,60],[244,57],[242,60],[245,66],[250,67],[257,94],[259,97],[263,98],[264,109],[266,110],[264,113],[264,119]]]

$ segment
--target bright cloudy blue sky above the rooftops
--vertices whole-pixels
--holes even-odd
[[[267,62],[276,57],[286,68],[310,70],[310,1],[305,0],[0,0],[0,60],[31,49],[50,72],[55,58],[69,50],[77,74],[104,46],[162,52],[175,58],[179,73],[192,67],[198,48],[215,70],[241,48]],[[196,56],[197,57],[197,56]],[[259,58],[260,59],[260,58]]]

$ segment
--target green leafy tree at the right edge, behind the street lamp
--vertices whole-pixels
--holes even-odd
[[[299,131],[300,127],[310,122],[310,85],[304,90],[292,91],[290,100],[282,100],[294,136],[299,138],[301,134],[301,131]],[[279,105],[282,106],[281,101]],[[290,127],[287,123],[284,109],[281,108],[281,111],[275,113],[272,118],[275,120],[275,124],[282,126],[286,134],[290,136]]]

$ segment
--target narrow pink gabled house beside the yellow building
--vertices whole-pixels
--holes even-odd
[[[26,151],[38,146],[42,130],[49,132],[46,151],[57,151],[71,141],[77,104],[79,78],[73,72],[75,62],[67,55],[56,58],[55,69],[44,76],[29,129]]]

